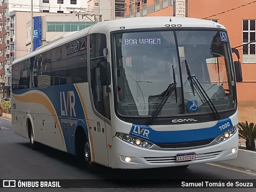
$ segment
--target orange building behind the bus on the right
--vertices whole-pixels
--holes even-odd
[[[126,17],[173,16],[175,0],[126,0]],[[237,47],[243,81],[237,83],[238,101],[256,100],[256,1],[180,0],[186,17],[214,20],[226,27],[231,47]],[[248,42],[252,42],[248,44]],[[242,46],[242,44],[244,44]],[[234,60],[237,60],[233,54]]]

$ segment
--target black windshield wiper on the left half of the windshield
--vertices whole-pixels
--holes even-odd
[[[162,98],[160,104],[157,106],[156,110],[154,110],[152,116],[148,120],[148,124],[152,123],[153,120],[156,118],[156,116],[158,116],[159,112],[162,110],[164,104],[166,103],[166,101],[168,100],[168,98],[170,97],[173,91],[175,91],[175,99],[177,103],[177,86],[176,86],[177,83],[176,83],[176,77],[175,77],[173,66],[172,66],[172,75],[173,75],[173,83],[171,83],[166,89],[164,97]]]

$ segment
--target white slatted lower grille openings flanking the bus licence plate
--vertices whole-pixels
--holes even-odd
[[[221,151],[196,154],[196,160],[216,158],[220,154],[220,152]],[[176,156],[171,156],[171,157],[144,157],[144,158],[145,158],[146,161],[148,161],[150,163],[173,163],[173,162],[176,162]]]

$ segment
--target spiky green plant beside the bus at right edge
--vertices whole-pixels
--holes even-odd
[[[251,123],[248,124],[246,121],[238,123],[239,127],[239,136],[246,140],[246,149],[247,150],[254,150],[255,149],[255,142],[256,139],[256,124]]]

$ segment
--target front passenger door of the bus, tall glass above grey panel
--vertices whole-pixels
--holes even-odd
[[[99,33],[90,34],[90,45],[88,46],[90,46],[89,82],[94,111],[94,118],[90,122],[93,141],[93,146],[91,146],[93,148],[92,157],[95,157],[95,162],[108,165],[112,162],[111,148],[108,147],[108,143],[112,143],[110,100],[108,85],[102,79],[104,74],[106,74],[106,58],[104,58],[103,54],[103,50],[106,48],[106,35]]]

